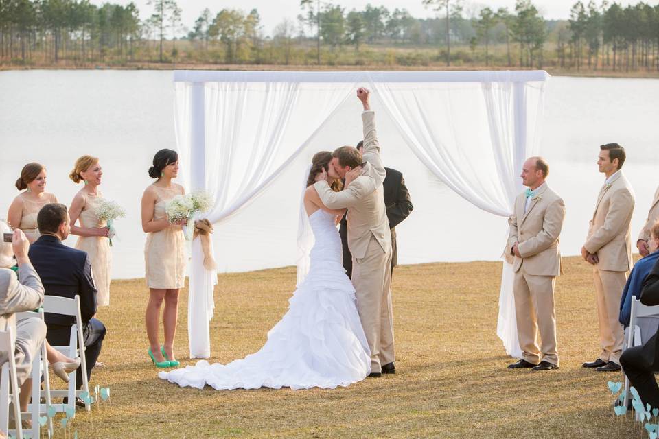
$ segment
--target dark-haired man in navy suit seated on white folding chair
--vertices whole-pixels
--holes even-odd
[[[39,211],[36,222],[41,237],[30,246],[30,260],[41,277],[45,294],[67,298],[80,296],[82,335],[86,348],[84,355],[89,379],[106,333],[104,324],[93,318],[96,313],[96,287],[89,257],[82,250],[62,244],[71,230],[69,213],[64,204],[46,204]],[[48,342],[55,346],[68,345],[71,325],[76,323],[76,318],[45,313],[45,320]],[[78,389],[82,386],[81,368],[78,368],[76,374],[76,386]]]

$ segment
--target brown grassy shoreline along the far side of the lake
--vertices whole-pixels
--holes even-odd
[[[159,63],[159,62],[136,62],[123,65],[108,64],[77,64],[77,65],[14,65],[0,64],[0,72],[3,71],[30,71],[30,70],[217,70],[217,71],[518,71],[535,70],[492,66],[383,66],[372,65],[321,65],[314,64],[187,64],[187,63]],[[568,76],[575,78],[649,78],[659,79],[659,71],[572,71],[566,69],[543,69],[552,76]]]

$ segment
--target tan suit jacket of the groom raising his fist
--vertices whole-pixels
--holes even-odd
[[[391,231],[386,217],[382,182],[386,171],[380,157],[380,143],[375,131],[375,113],[362,113],[364,154],[366,162],[360,176],[340,192],[334,192],[326,181],[314,184],[321,201],[329,209],[348,209],[348,248],[355,259],[365,257],[371,236],[382,252],[391,250]]]

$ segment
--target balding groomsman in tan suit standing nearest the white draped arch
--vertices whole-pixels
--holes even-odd
[[[543,158],[531,157],[524,162],[521,177],[528,189],[518,195],[508,221],[507,253],[515,258],[513,292],[522,348],[522,359],[510,364],[510,369],[558,368],[554,286],[561,273],[559,236],[565,204],[547,185],[548,174]],[[537,345],[538,329],[541,346]]]

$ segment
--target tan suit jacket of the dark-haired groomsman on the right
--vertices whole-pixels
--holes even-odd
[[[599,192],[586,244],[583,244],[589,253],[597,253],[598,270],[627,272],[632,269],[633,212],[634,190],[621,172]]]

